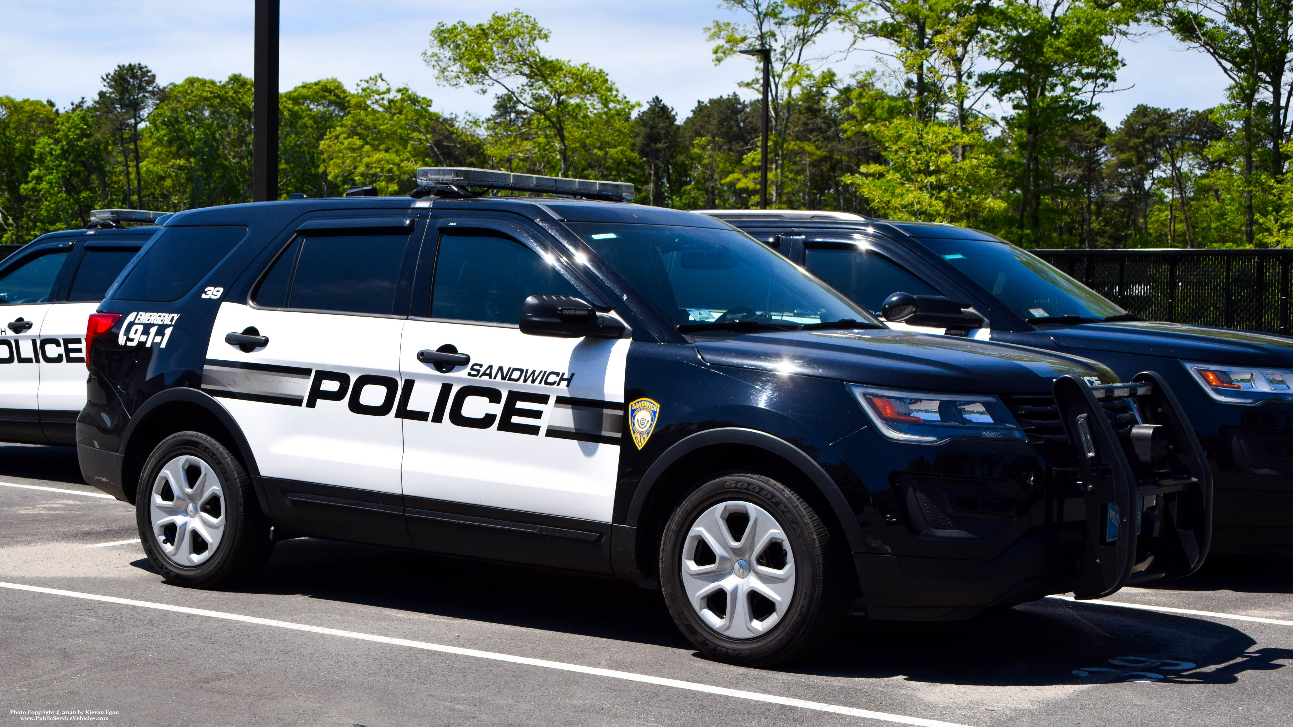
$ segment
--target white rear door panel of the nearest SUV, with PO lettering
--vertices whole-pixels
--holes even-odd
[[[398,318],[260,310],[221,303],[211,331],[202,389],[229,409],[268,477],[400,493],[403,448],[400,420],[356,413],[380,409],[384,385],[356,387],[362,375],[396,387],[400,375]],[[255,327],[269,345],[251,353],[225,343],[225,334]],[[344,374],[340,401],[309,401],[318,371]],[[321,380],[325,395],[339,384]],[[313,406],[309,406],[313,404]]]

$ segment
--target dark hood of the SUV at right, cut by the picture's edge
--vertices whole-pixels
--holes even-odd
[[[1063,348],[1164,356],[1213,364],[1293,366],[1293,338],[1151,321],[1082,323],[1050,331]]]

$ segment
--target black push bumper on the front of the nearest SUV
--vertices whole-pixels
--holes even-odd
[[[1069,375],[1053,392],[1086,501],[1073,594],[1103,598],[1199,569],[1212,539],[1212,472],[1166,382],[1143,371],[1129,384],[1093,387]],[[1124,398],[1144,423],[1120,437],[1102,402]]]

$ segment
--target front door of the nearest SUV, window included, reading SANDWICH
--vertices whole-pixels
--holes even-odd
[[[605,569],[630,342],[522,334],[526,296],[586,296],[528,235],[465,224],[440,230],[431,320],[409,321],[400,352],[410,532],[428,550]]]

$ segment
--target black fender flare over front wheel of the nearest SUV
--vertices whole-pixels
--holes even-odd
[[[848,547],[853,552],[865,550],[862,529],[857,524],[857,516],[853,514],[853,508],[848,505],[848,499],[844,497],[844,493],[840,492],[839,485],[837,485],[835,480],[833,480],[830,475],[821,468],[821,464],[808,457],[802,449],[781,437],[760,432],[758,429],[746,429],[743,427],[720,427],[716,429],[706,429],[703,432],[683,437],[666,449],[663,454],[656,458],[656,462],[653,462],[646,470],[641,480],[637,481],[637,489],[634,492],[634,498],[628,503],[628,512],[625,524],[630,528],[637,528],[643,507],[646,505],[646,498],[650,497],[652,490],[656,489],[656,483],[659,477],[671,466],[674,466],[674,463],[701,448],[718,444],[741,444],[754,446],[789,462],[791,467],[796,468],[799,473],[807,477],[808,481],[817,488],[817,492],[826,498],[830,508],[834,510],[835,519],[844,529],[844,537],[848,541]]]

